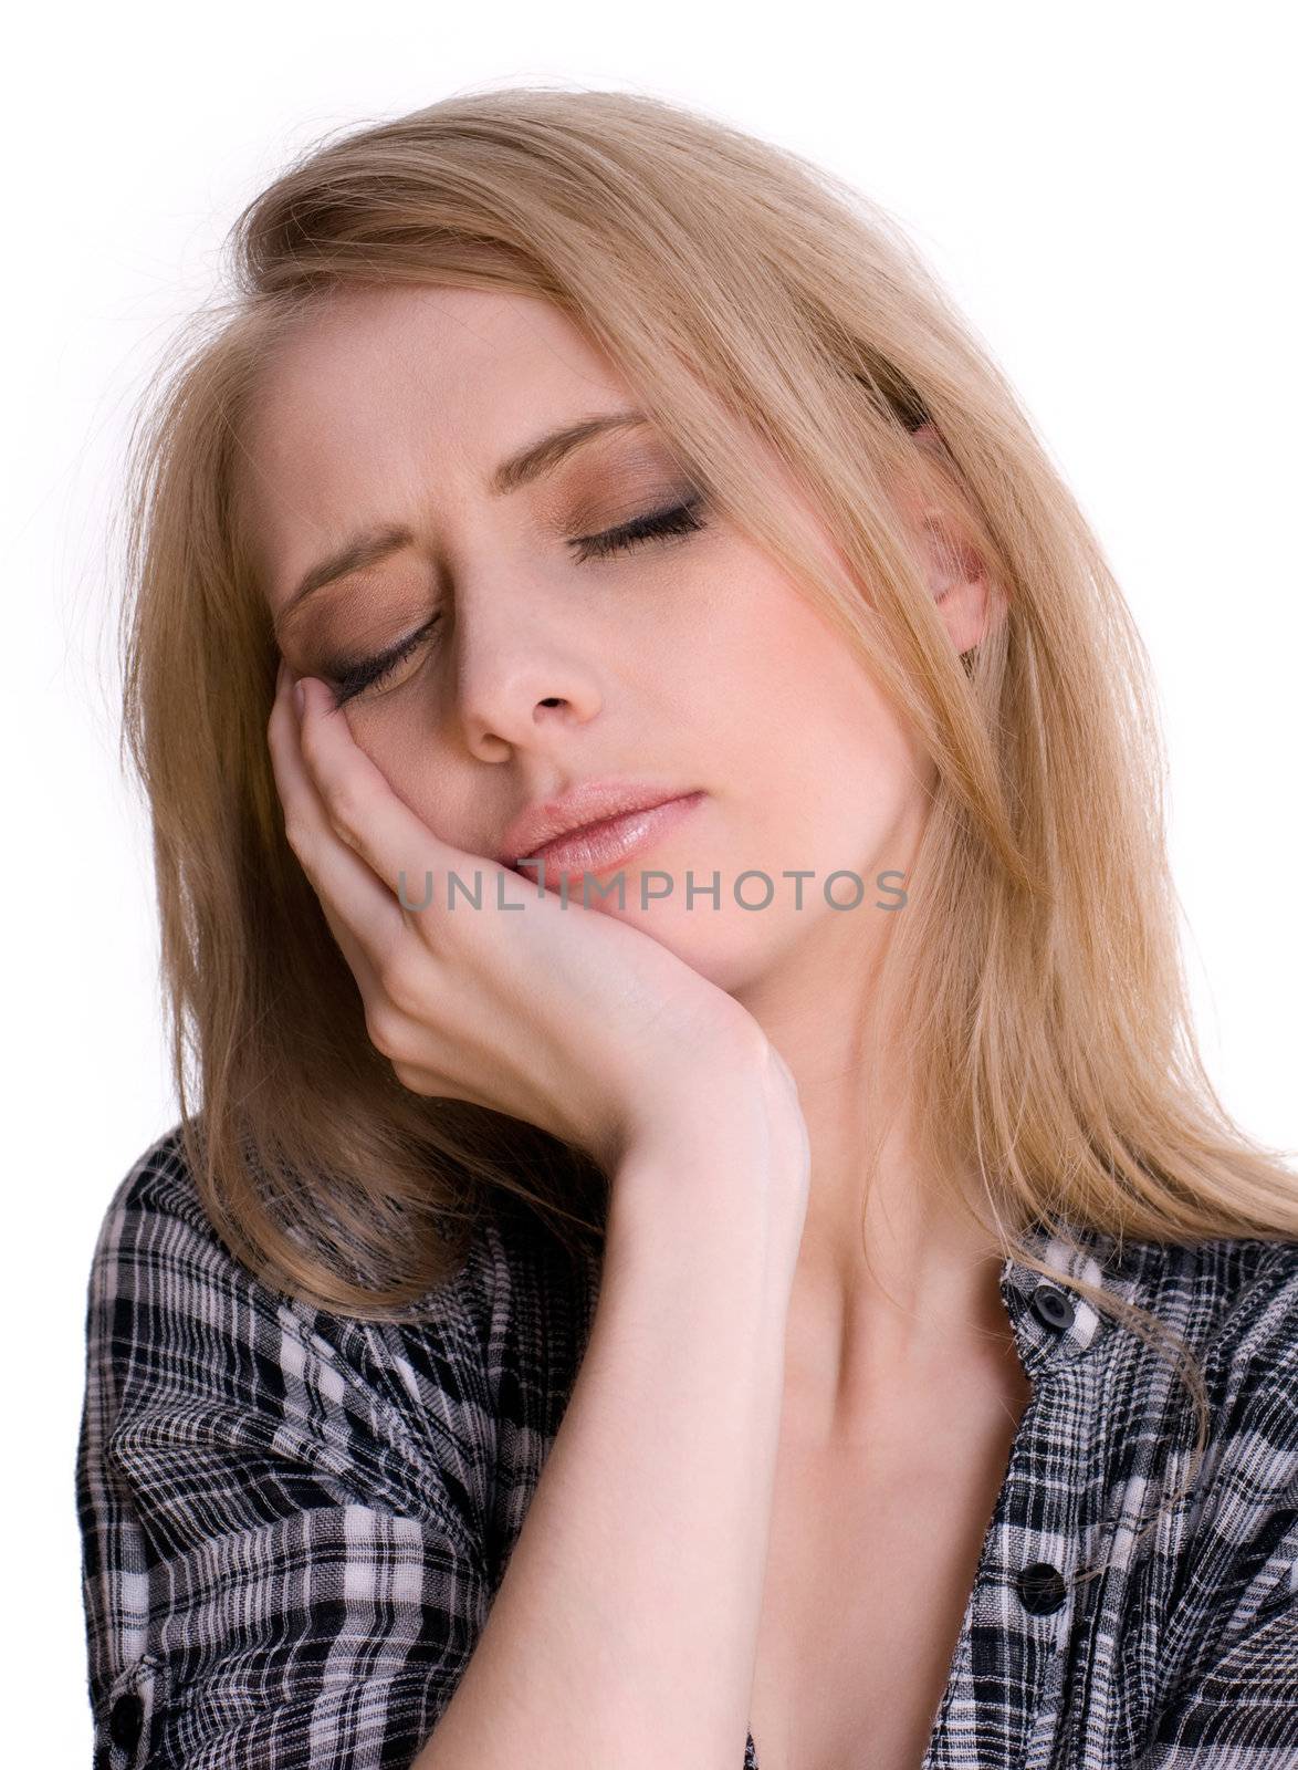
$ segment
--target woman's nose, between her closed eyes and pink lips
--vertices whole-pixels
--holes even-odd
[[[467,749],[534,745],[550,727],[584,724],[601,706],[580,616],[532,596],[479,593],[454,612],[454,717]],[[555,733],[557,735],[557,733]]]

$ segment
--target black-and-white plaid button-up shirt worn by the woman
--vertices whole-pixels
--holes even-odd
[[[1185,1335],[1208,1455],[1135,1543],[1185,1478],[1190,1398],[1139,1336],[1004,1264],[1033,1397],[923,1770],[1296,1766],[1298,1243],[1141,1243],[1121,1264],[1091,1232],[1080,1260],[1045,1228],[1035,1246]],[[95,1770],[408,1766],[486,1620],[596,1289],[594,1257],[488,1214],[423,1324],[322,1313],[230,1257],[177,1131],[159,1138],[88,1281]]]

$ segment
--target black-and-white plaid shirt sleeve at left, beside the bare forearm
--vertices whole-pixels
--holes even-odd
[[[95,1770],[408,1766],[490,1604],[469,1292],[416,1372],[387,1324],[256,1283],[180,1175],[127,1175],[88,1281]]]

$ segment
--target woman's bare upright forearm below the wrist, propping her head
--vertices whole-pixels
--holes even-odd
[[[741,1761],[801,1234],[767,1133],[714,1113],[614,1177],[582,1368],[414,1770]]]

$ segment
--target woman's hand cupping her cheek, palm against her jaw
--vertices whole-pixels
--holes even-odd
[[[416,1094],[474,1101],[612,1168],[713,1087],[792,1080],[759,1023],[642,929],[435,835],[306,678],[301,729],[279,667],[267,726],[285,834],[364,1000],[370,1039]],[[483,906],[446,906],[449,871]],[[407,910],[405,896],[428,908]],[[499,881],[504,881],[500,885]],[[522,910],[500,910],[500,901]]]

